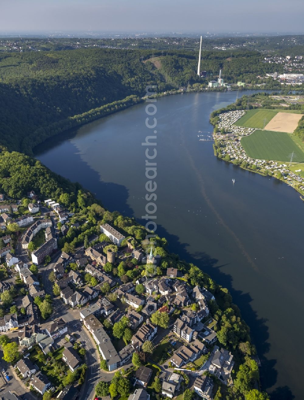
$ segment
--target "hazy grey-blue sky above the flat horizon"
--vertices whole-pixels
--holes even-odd
[[[0,0],[0,32],[304,33],[304,0]]]

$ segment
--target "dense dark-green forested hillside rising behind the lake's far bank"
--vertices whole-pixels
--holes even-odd
[[[52,135],[140,101],[146,85],[157,85],[159,92],[206,85],[220,68],[227,82],[255,83],[257,74],[274,68],[258,52],[203,53],[207,78],[197,76],[197,55],[190,51],[154,52],[153,58],[148,50],[100,48],[2,52],[0,144],[32,154]]]

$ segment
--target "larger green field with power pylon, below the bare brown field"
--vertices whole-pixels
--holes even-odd
[[[250,158],[259,160],[290,161],[294,152],[294,162],[304,162],[304,152],[295,144],[288,133],[270,130],[255,130],[244,136],[241,144]]]

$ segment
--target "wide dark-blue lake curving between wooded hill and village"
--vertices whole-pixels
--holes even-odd
[[[235,98],[212,92],[157,99],[157,233],[230,290],[258,349],[264,388],[275,399],[302,399],[304,203],[286,184],[218,160],[212,142],[198,140],[199,130],[212,131],[210,113]],[[140,220],[142,142],[153,134],[146,117],[138,104],[52,138],[36,156],[109,210]]]

